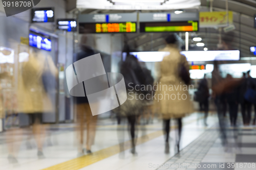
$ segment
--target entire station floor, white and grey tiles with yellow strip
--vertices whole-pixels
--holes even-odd
[[[181,152],[176,154],[175,124],[170,132],[170,154],[164,154],[162,121],[138,126],[137,154],[130,153],[131,143],[127,126],[117,125],[112,119],[99,120],[92,147],[93,154],[77,155],[77,132],[74,124],[51,125],[44,143],[45,159],[36,156],[36,143],[29,130],[19,131],[15,143],[22,142],[17,164],[7,160],[9,133],[0,133],[0,169],[15,170],[141,170],[141,169],[256,169],[256,129],[253,126],[230,128],[227,124],[227,144],[222,145],[215,115],[208,117],[209,126],[198,122],[198,115],[183,119]],[[228,118],[227,118],[228,120]],[[228,122],[228,121],[227,121]],[[241,124],[241,117],[239,119]],[[118,138],[118,133],[123,138]],[[124,142],[125,151],[120,153],[119,142]]]

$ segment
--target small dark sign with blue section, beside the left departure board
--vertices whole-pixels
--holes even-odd
[[[75,19],[57,19],[57,29],[64,31],[76,31]]]

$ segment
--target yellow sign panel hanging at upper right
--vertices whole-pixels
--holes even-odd
[[[233,24],[233,12],[229,11],[228,16],[225,11],[200,12],[200,27],[226,27]],[[227,20],[228,17],[228,20]]]

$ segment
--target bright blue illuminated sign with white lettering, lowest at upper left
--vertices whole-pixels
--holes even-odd
[[[29,34],[29,45],[39,48],[41,50],[52,50],[52,41],[50,39],[40,37],[34,34]]]

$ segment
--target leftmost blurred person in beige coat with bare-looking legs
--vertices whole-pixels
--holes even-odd
[[[45,158],[42,152],[42,146],[46,136],[46,125],[42,124],[42,114],[52,114],[54,108],[49,98],[48,91],[55,89],[47,88],[43,83],[43,77],[46,75],[45,65],[48,65],[48,75],[52,75],[54,79],[57,76],[57,68],[51,57],[31,53],[28,61],[19,63],[19,75],[17,86],[17,113],[27,114],[29,117],[29,125],[32,125],[32,134],[37,144],[37,157],[39,159]],[[17,134],[24,133],[22,129],[11,129],[10,140],[21,141],[17,139]],[[16,145],[10,143],[8,160],[11,163],[16,163],[16,155],[19,150],[20,142]]]

